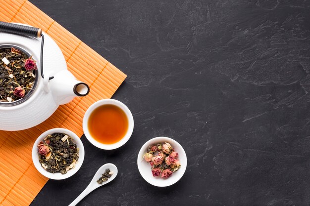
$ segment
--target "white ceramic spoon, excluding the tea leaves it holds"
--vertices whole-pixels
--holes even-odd
[[[110,171],[113,172],[112,176],[107,179],[107,181],[103,182],[103,184],[99,184],[97,180],[102,177],[102,174],[105,172],[105,169],[110,169]],[[105,185],[106,183],[109,183],[112,181],[117,175],[117,167],[111,163],[107,163],[105,165],[102,165],[96,174],[94,175],[92,181],[89,183],[89,185],[86,187],[86,189],[69,205],[69,206],[75,206],[78,204],[86,195],[91,193],[93,190],[99,188],[100,186]]]

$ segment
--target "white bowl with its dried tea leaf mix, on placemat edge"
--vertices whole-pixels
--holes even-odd
[[[32,148],[32,161],[37,170],[50,179],[66,179],[75,174],[84,161],[80,138],[65,128],[42,133]]]

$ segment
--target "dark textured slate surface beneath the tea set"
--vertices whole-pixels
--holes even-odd
[[[309,0],[30,0],[128,75],[114,99],[132,111],[114,151],[83,136],[85,161],[31,206],[68,205],[95,171],[119,176],[79,206],[309,206]],[[157,188],[140,147],[177,140],[183,178]]]

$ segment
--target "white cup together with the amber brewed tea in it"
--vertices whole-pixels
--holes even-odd
[[[125,144],[133,131],[133,117],[126,105],[114,99],[95,102],[86,111],[83,130],[96,147],[116,149]]]

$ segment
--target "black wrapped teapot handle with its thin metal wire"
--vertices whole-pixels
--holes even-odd
[[[0,21],[0,32],[7,32],[7,33],[16,34],[16,35],[30,36],[30,37],[36,37],[36,38],[42,37],[40,65],[41,65],[41,77],[44,79],[44,74],[43,74],[44,35],[42,33],[42,29]],[[54,77],[49,77],[49,80],[52,80],[53,78]]]

